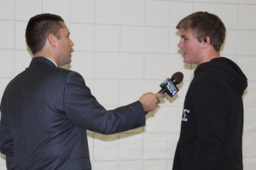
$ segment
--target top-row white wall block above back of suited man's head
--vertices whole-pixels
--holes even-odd
[[[15,20],[29,20],[42,13],[42,0],[15,1]]]

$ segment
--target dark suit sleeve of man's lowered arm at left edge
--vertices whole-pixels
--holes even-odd
[[[3,102],[3,100],[2,100]],[[14,159],[14,140],[12,139],[9,123],[7,117],[3,111],[3,105],[1,104],[1,122],[0,122],[0,150],[3,155],[6,156],[6,167],[9,169]]]

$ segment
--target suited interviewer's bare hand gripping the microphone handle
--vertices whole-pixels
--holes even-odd
[[[154,111],[157,104],[160,102],[159,98],[164,98],[166,94],[153,94],[151,92],[148,92],[146,94],[143,94],[139,101],[143,104],[144,111]]]

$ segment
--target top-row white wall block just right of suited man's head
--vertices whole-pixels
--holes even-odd
[[[70,21],[78,23],[94,23],[95,2],[95,0],[70,1]]]

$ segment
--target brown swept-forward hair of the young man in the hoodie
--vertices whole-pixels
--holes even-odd
[[[216,51],[219,51],[226,36],[226,28],[222,20],[217,15],[207,12],[189,14],[179,21],[176,28],[180,31],[191,29],[199,42],[207,42],[207,37],[210,37],[210,43]]]

